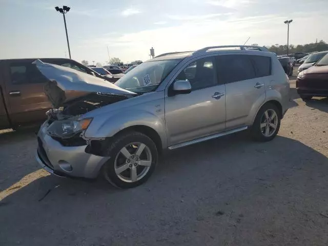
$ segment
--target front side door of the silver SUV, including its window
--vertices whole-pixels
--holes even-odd
[[[190,81],[192,92],[166,96],[165,99],[169,146],[212,135],[225,128],[226,90],[224,85],[218,84],[215,59],[206,57],[193,61],[175,78],[185,79]]]

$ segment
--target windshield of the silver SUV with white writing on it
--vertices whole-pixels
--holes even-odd
[[[135,93],[153,91],[180,61],[157,60],[142,63],[117,80],[115,85]]]

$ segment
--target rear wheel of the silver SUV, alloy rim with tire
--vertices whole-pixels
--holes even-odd
[[[269,113],[270,118],[273,115],[271,114],[272,112],[275,112],[276,116],[273,119],[267,120],[265,116],[265,112]],[[267,120],[267,122],[264,122],[265,120]],[[275,136],[279,131],[280,120],[281,120],[281,112],[278,110],[278,108],[275,105],[270,103],[263,105],[262,108],[260,108],[260,110],[258,111],[255,120],[253,122],[253,126],[251,127],[251,135],[253,139],[261,142],[271,141],[273,138],[275,138]],[[267,134],[267,136],[265,135],[267,133],[266,131],[267,126],[261,128],[261,124],[267,124],[267,126],[271,124],[269,126],[269,134]],[[271,127],[273,125],[276,125],[275,129]]]

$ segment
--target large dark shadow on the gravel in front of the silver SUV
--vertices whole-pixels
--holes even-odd
[[[199,240],[213,240],[199,235],[217,234],[219,227],[222,238],[217,244],[222,245],[224,240],[247,233],[248,227],[257,232],[271,227],[273,214],[289,221],[275,228],[278,235],[315,233],[317,227],[309,229],[305,220],[293,217],[287,202],[298,206],[312,204],[313,199],[312,209],[318,200],[326,204],[327,166],[327,157],[297,140],[277,136],[259,143],[250,141],[243,132],[170,152],[161,158],[153,176],[134,189],[115,189],[103,179],[90,183],[46,176],[4,196],[0,242],[164,245],[173,240],[199,245],[203,242]],[[233,212],[214,224],[207,223],[219,208],[235,211],[239,221],[245,220],[245,231],[241,224],[233,226],[237,219]],[[248,211],[247,218],[238,217],[238,211],[243,210]],[[293,223],[301,223],[304,231],[292,231]],[[197,233],[189,234],[193,231]],[[283,239],[271,238],[271,242],[283,244],[275,241],[279,238]]]

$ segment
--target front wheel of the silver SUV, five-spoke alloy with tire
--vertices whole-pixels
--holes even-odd
[[[137,144],[145,145],[139,156],[136,155],[140,147]],[[121,152],[123,148],[128,150],[128,153],[123,151],[126,155]],[[131,154],[130,158],[126,158],[128,154]],[[115,136],[106,151],[106,155],[111,156],[111,158],[103,166],[103,175],[113,186],[122,189],[134,188],[146,182],[154,172],[158,160],[158,151],[154,141],[147,135],[135,131],[122,132]],[[147,160],[145,160],[145,157],[147,157]],[[128,161],[130,162],[128,163]],[[143,163],[147,161],[147,165],[150,166],[143,166],[140,161],[143,161]],[[118,163],[121,165],[118,165]],[[129,167],[126,168],[127,166]],[[118,168],[126,169],[116,174],[116,172],[119,172]],[[132,169],[136,170],[134,177],[137,179],[135,178],[135,180],[132,178]],[[147,171],[145,171],[146,169]]]

